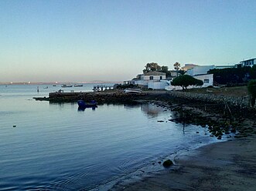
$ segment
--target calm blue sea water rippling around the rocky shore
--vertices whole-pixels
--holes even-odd
[[[131,173],[163,169],[158,162],[173,153],[217,141],[206,128],[170,122],[171,110],[150,103],[79,111],[76,102],[32,99],[94,85],[0,85],[0,190],[104,189]],[[140,170],[145,166],[148,172]]]

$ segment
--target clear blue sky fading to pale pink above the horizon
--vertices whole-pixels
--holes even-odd
[[[1,0],[0,82],[123,81],[256,58],[255,0]]]

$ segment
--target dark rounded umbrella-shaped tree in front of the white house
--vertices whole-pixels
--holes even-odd
[[[175,79],[172,79],[172,85],[181,86],[184,89],[189,85],[203,85],[203,81],[195,79],[191,75],[179,75]]]

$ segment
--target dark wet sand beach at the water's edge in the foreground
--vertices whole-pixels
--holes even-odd
[[[175,165],[111,190],[256,190],[256,136],[180,153]]]

